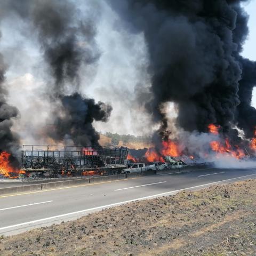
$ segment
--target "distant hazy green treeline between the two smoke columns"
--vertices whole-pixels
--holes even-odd
[[[106,132],[106,137],[111,138],[111,144],[112,145],[118,145],[119,141],[123,141],[124,144],[127,144],[129,142],[137,142],[137,143],[150,143],[151,137],[150,136],[134,136],[131,134],[121,135],[118,133],[111,133]]]

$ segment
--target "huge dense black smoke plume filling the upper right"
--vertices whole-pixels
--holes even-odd
[[[248,33],[241,2],[109,0],[124,26],[145,36],[153,94],[146,106],[162,138],[169,135],[166,102],[178,105],[177,125],[185,131],[207,132],[215,123],[229,133],[238,125],[252,137],[255,63],[239,56]]]

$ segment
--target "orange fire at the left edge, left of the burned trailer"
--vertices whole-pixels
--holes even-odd
[[[10,165],[10,156],[11,154],[3,151],[0,154],[0,175],[3,175],[6,178],[18,178],[20,173],[25,174],[25,171],[15,169]]]

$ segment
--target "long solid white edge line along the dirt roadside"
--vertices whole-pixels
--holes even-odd
[[[44,219],[39,219],[39,220],[32,220],[32,221],[28,221],[28,222],[23,222],[23,223],[19,223],[19,224],[7,226],[7,227],[2,227],[2,228],[0,228],[0,230],[4,230],[4,229],[8,229],[8,228],[20,227],[20,226],[25,226],[25,225],[29,225],[29,224],[33,224],[33,223],[45,221],[45,220],[58,219],[58,218],[61,218],[61,217],[66,217],[66,216],[74,215],[74,214],[78,214],[78,213],[89,212],[89,211],[94,211],[94,210],[98,210],[98,209],[105,209],[105,208],[108,208],[108,207],[111,207],[111,206],[126,204],[126,203],[130,203],[130,202],[134,202],[134,201],[138,201],[138,200],[144,200],[144,199],[148,199],[148,198],[152,198],[152,197],[158,197],[158,196],[163,196],[163,195],[178,193],[178,192],[183,191],[183,190],[188,190],[188,189],[194,189],[194,188],[200,188],[200,187],[210,186],[210,185],[218,184],[218,183],[220,183],[220,182],[226,182],[226,181],[230,181],[230,180],[241,179],[241,178],[250,177],[250,176],[253,176],[253,175],[256,175],[256,173],[250,174],[250,175],[241,176],[241,177],[236,177],[236,178],[232,178],[232,179],[227,179],[227,180],[215,181],[215,182],[211,182],[211,183],[207,183],[207,184],[203,184],[203,185],[198,185],[198,186],[194,186],[194,187],[182,188],[182,189],[178,189],[178,190],[168,191],[168,192],[164,192],[164,193],[161,193],[161,194],[156,194],[156,195],[151,195],[151,196],[145,196],[145,197],[140,197],[140,198],[134,198],[134,199],[127,200],[127,201],[123,201],[123,202],[118,202],[118,203],[114,203],[114,204],[102,205],[102,206],[93,207],[93,208],[85,209],[85,210],[81,210],[81,211],[69,212],[69,213],[60,214],[60,215],[56,215],[56,216],[52,216],[52,217],[48,217],[48,218],[44,218]]]

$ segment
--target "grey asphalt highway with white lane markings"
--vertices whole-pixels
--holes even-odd
[[[256,178],[251,169],[205,168],[0,196],[0,235],[77,219],[91,212],[138,199],[196,190],[217,183]]]

